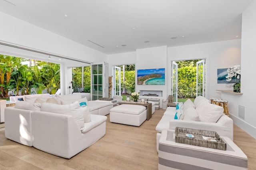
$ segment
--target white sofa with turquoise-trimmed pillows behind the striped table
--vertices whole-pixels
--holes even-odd
[[[223,113],[223,107],[210,104],[202,96],[195,98],[194,103],[187,100],[176,107],[167,107],[162,119],[156,126],[156,149],[163,129],[175,130],[175,127],[216,131],[220,136],[229,137],[233,141],[233,120]],[[174,119],[175,114],[180,119]]]

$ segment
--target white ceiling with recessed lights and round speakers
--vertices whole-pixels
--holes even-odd
[[[115,54],[164,45],[240,39],[242,12],[250,2],[0,0],[0,11],[102,53]]]

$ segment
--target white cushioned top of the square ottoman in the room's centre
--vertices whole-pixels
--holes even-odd
[[[146,110],[145,106],[132,105],[132,104],[121,104],[119,106],[116,106],[116,107],[113,107],[112,109],[110,109],[110,112],[138,115],[138,114],[142,113],[144,110]]]

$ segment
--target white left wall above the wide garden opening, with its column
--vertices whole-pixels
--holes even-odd
[[[43,51],[54,55],[60,55],[72,59],[89,61],[92,63],[104,62],[107,60],[107,55],[104,53],[71,41],[67,38],[61,37],[60,35],[19,20],[2,12],[0,12],[0,21],[2,25],[0,27],[0,42],[34,49],[37,51]],[[9,54],[12,53],[12,51],[5,51],[4,48],[1,49],[1,47],[0,51]],[[19,54],[16,53],[16,55]],[[63,65],[63,67],[66,68],[62,68],[62,70],[68,70],[68,67],[70,66],[70,62],[68,62]],[[68,89],[67,82],[71,82],[70,76],[67,74],[68,72],[65,73],[67,76],[66,81],[61,82],[62,87],[65,89],[64,93],[66,93]],[[64,80],[64,78],[62,78],[62,80]]]

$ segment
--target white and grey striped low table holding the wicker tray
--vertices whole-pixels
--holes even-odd
[[[247,156],[228,137],[226,150],[175,142],[175,131],[164,129],[159,140],[158,170],[248,170]]]

